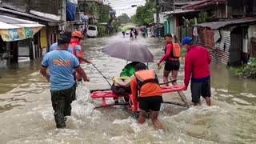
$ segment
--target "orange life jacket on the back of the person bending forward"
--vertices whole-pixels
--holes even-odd
[[[134,76],[138,83],[138,93],[140,93],[142,86],[146,83],[151,82],[155,83],[156,85],[159,85],[158,77],[154,73],[154,70],[140,70],[135,72]]]

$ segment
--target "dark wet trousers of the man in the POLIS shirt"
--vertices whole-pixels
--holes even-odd
[[[74,86],[66,90],[50,90],[57,128],[66,127],[64,117],[71,115],[71,103],[74,98],[74,91]]]

